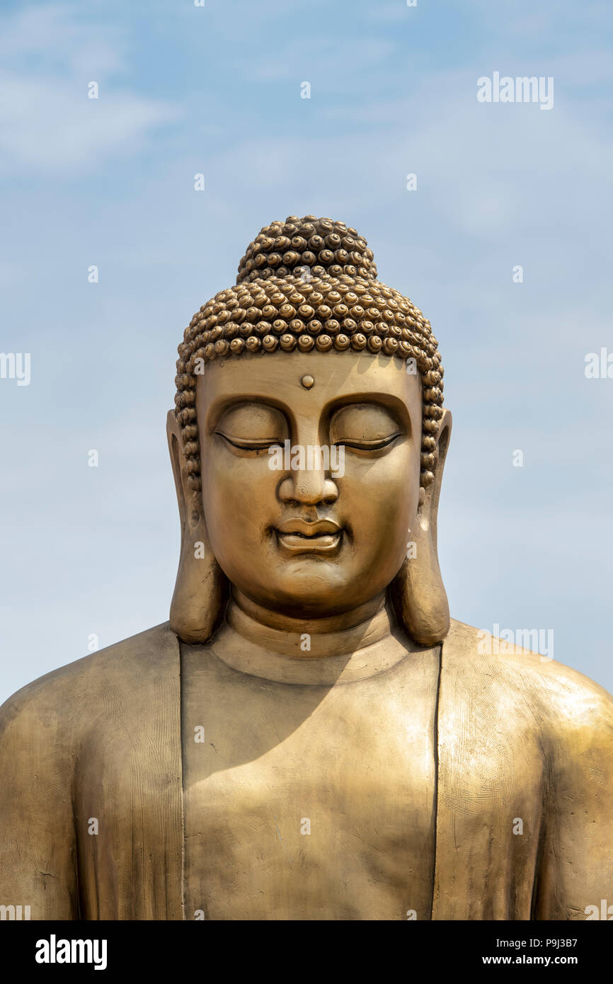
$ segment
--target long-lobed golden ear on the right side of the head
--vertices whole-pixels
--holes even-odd
[[[391,585],[400,623],[411,639],[422,646],[435,646],[449,632],[449,602],[437,554],[437,518],[451,430],[452,414],[445,409],[437,431],[434,480],[420,494],[411,527],[415,556],[404,561]]]

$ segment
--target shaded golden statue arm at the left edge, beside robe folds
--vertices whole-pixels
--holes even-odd
[[[78,919],[61,706],[45,702],[39,683],[0,707],[0,905],[21,905],[32,920]]]

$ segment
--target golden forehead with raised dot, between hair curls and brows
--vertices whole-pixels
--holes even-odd
[[[315,380],[307,390],[303,376]],[[235,402],[264,401],[297,416],[321,414],[342,401],[376,402],[421,415],[421,380],[390,355],[364,352],[267,352],[215,359],[197,377],[201,422]]]

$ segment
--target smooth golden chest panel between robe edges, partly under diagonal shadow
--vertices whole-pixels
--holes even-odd
[[[429,918],[437,666],[331,688],[185,669],[186,918]]]

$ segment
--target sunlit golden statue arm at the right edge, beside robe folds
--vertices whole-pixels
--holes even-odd
[[[589,682],[581,710],[566,710],[550,757],[533,918],[601,919],[608,906],[613,918],[613,699]]]

